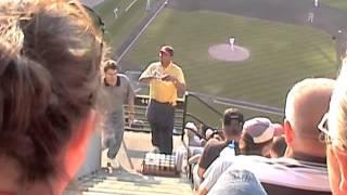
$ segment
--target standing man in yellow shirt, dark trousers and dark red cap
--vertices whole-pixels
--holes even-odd
[[[178,93],[187,89],[183,72],[172,63],[172,47],[162,47],[160,61],[152,63],[139,79],[150,84],[151,101],[146,116],[152,129],[152,144],[162,154],[172,153],[175,105]]]

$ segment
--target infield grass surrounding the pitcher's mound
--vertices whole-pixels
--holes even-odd
[[[211,44],[236,42],[250,50],[241,63],[220,62],[208,55]],[[286,92],[306,77],[336,75],[333,42],[310,27],[279,24],[208,11],[165,10],[140,38],[126,61],[145,64],[157,48],[171,43],[189,90],[283,107]]]

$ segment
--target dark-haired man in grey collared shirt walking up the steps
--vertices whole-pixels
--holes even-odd
[[[104,65],[104,79],[98,92],[97,110],[102,116],[102,142],[107,148],[107,166],[118,168],[117,153],[124,135],[124,104],[128,104],[129,123],[133,121],[134,92],[126,75],[118,73],[115,61],[108,60]]]

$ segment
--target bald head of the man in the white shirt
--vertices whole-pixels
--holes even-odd
[[[296,136],[318,141],[317,126],[329,110],[329,103],[335,81],[325,78],[305,79],[288,92],[285,103],[285,118]]]

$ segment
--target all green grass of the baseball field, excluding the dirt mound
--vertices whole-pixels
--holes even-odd
[[[125,12],[130,2],[106,0],[95,6],[105,21],[106,40],[113,51],[147,14],[144,11],[146,0],[138,0]],[[223,0],[217,0],[214,5],[208,4],[207,0],[194,2],[169,2],[125,53],[120,61],[123,69],[144,69],[150,62],[157,60],[158,47],[168,43],[175,48],[175,62],[182,67],[190,91],[280,109],[284,108],[286,93],[295,82],[304,78],[334,78],[337,75],[330,29],[307,23],[304,11],[293,13],[294,16],[288,16],[288,20],[280,11],[266,18],[268,15],[261,15],[260,11],[258,17],[253,13],[239,14],[232,8],[223,9],[230,5]],[[216,3],[220,5],[216,6]],[[340,10],[347,8],[344,0],[324,0],[323,3]],[[249,3],[244,4],[243,9],[249,6]],[[123,10],[117,20],[113,12],[115,8]],[[326,28],[334,28],[333,24],[330,25]],[[227,44],[230,37],[235,37],[235,44],[248,51],[247,58],[232,62],[210,54],[213,47]],[[213,106],[219,110],[228,107],[216,102]],[[209,114],[211,112],[196,102],[192,102],[189,109],[204,120],[216,121],[215,116]],[[245,107],[242,109],[247,117],[266,115],[278,121],[282,119],[278,115]]]

